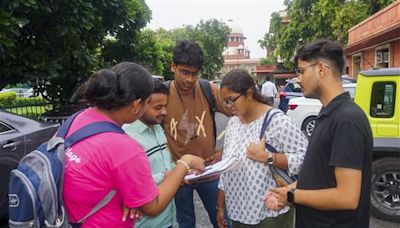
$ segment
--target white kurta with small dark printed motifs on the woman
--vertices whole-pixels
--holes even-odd
[[[273,112],[280,110],[272,110]],[[238,156],[239,169],[221,175],[219,189],[225,192],[225,205],[230,219],[244,224],[258,224],[267,217],[276,217],[288,211],[288,207],[276,212],[267,209],[263,196],[271,187],[276,187],[267,163],[246,157],[250,143],[259,143],[260,131],[265,115],[249,124],[242,124],[233,117],[226,128],[223,159]],[[265,130],[266,142],[288,158],[289,174],[299,173],[308,140],[290,117],[277,114]]]

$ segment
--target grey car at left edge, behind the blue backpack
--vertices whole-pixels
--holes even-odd
[[[0,219],[8,215],[10,171],[24,155],[50,139],[58,126],[0,110]]]

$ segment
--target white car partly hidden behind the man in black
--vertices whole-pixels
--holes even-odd
[[[350,93],[350,97],[354,99],[356,91],[355,83],[344,83],[344,91]],[[315,126],[315,120],[322,108],[322,104],[318,99],[298,97],[289,100],[287,115],[296,121],[297,126],[310,137]]]

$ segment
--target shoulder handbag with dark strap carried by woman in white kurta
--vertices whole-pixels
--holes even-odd
[[[265,129],[267,129],[269,123],[271,122],[272,117],[274,117],[277,114],[282,113],[281,111],[276,111],[276,112],[270,114],[271,110],[273,110],[273,109],[270,109],[265,114],[264,121],[263,121],[263,124],[261,127],[260,139],[262,139],[264,137]],[[270,145],[268,143],[265,143],[265,148],[271,153],[278,153],[278,151],[272,145]],[[283,186],[289,185],[296,181],[296,177],[290,176],[286,169],[278,168],[278,167],[274,166],[272,163],[268,163],[268,166],[269,166],[269,169],[271,170],[272,178],[274,178],[276,185],[278,187],[283,187]]]

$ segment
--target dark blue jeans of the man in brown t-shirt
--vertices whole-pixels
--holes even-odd
[[[216,221],[216,205],[218,193],[218,179],[184,185],[179,188],[175,194],[176,217],[178,219],[179,228],[196,227],[196,216],[194,213],[193,190],[196,190],[207,210],[210,221],[214,227],[218,227]]]

